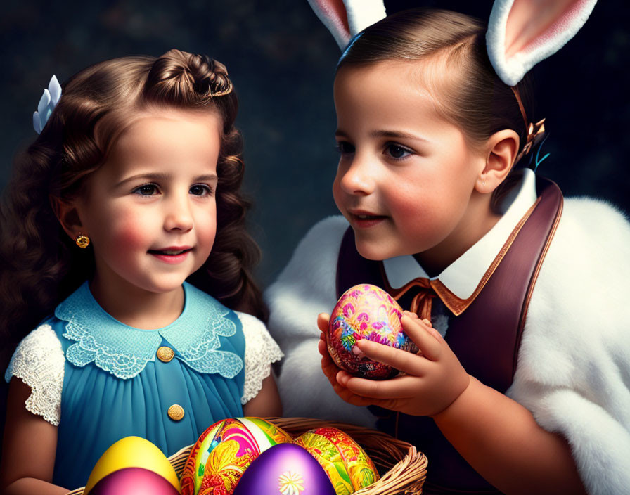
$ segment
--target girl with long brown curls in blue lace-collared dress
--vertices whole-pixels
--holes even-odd
[[[281,413],[236,110],[224,65],[177,50],[51,80],[2,209],[4,493],[84,486],[122,437],[170,456]]]

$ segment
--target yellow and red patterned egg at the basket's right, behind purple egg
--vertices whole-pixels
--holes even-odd
[[[321,465],[338,495],[352,494],[379,478],[376,466],[352,437],[337,428],[323,427],[293,440]]]

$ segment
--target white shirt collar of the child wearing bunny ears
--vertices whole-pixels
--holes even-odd
[[[536,176],[532,169],[522,169],[520,182],[508,193],[501,203],[503,216],[496,224],[463,253],[447,266],[441,274],[429,277],[422,266],[411,255],[384,259],[383,266],[387,281],[392,288],[401,288],[414,278],[438,278],[451,293],[460,299],[468,299],[479,285],[482,276],[494,261],[497,253],[506,243],[510,233],[517,226],[527,210],[536,203]]]

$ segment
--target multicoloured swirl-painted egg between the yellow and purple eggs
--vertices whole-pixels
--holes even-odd
[[[231,495],[245,469],[287,432],[261,418],[229,418],[205,430],[193,445],[181,474],[183,495]]]

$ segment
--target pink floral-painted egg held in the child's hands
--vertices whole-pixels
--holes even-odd
[[[400,305],[376,285],[355,285],[339,298],[328,324],[328,352],[335,364],[352,375],[385,379],[399,371],[352,352],[357,340],[368,339],[409,352],[418,347],[404,333]]]

